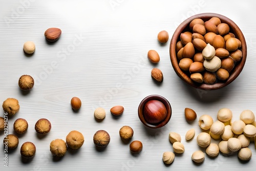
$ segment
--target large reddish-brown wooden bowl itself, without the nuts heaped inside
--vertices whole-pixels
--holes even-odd
[[[229,27],[230,27],[229,32],[233,33],[236,36],[236,38],[238,38],[242,43],[242,47],[240,48],[240,50],[243,53],[243,57],[239,62],[236,63],[234,69],[232,70],[232,72],[229,75],[229,78],[226,81],[218,81],[217,83],[214,83],[214,84],[205,84],[205,83],[199,84],[199,83],[196,83],[193,80],[191,80],[189,75],[187,75],[185,72],[183,72],[180,69],[179,63],[177,61],[177,56],[176,56],[176,44],[180,40],[181,33],[185,32],[185,31],[191,32],[191,30],[189,29],[189,23],[193,19],[201,18],[205,22],[206,20],[209,20],[211,17],[218,17],[218,18],[220,18],[222,23],[226,23],[229,25]],[[216,14],[216,13],[197,14],[197,15],[191,16],[191,17],[187,18],[186,20],[184,20],[184,22],[182,22],[178,26],[176,31],[174,32],[172,40],[170,41],[170,49],[169,50],[170,50],[170,61],[172,62],[172,65],[173,65],[173,68],[174,68],[176,74],[190,86],[197,88],[197,89],[202,89],[202,90],[217,90],[217,89],[223,88],[223,87],[227,86],[229,83],[231,83],[234,79],[236,79],[239,76],[239,74],[243,70],[245,61],[246,61],[246,56],[247,56],[246,41],[245,41],[242,31],[231,19],[229,19],[223,15]]]

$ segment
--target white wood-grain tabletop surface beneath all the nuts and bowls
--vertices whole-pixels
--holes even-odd
[[[14,134],[13,122],[25,118],[27,133],[18,135],[19,145],[8,151],[8,168],[4,167],[4,150],[0,151],[1,170],[253,170],[256,151],[250,144],[252,158],[241,162],[237,153],[216,159],[205,157],[196,165],[191,154],[200,149],[196,142],[185,141],[185,133],[196,129],[200,115],[209,114],[217,119],[221,108],[233,112],[233,121],[249,109],[256,113],[256,20],[254,1],[0,1],[0,101],[9,97],[19,100],[20,111],[9,118],[9,134]],[[187,86],[174,72],[169,59],[169,42],[177,26],[187,17],[214,12],[232,19],[242,30],[247,41],[247,61],[242,73],[229,86],[216,91],[201,91]],[[49,44],[44,32],[50,27],[62,30],[61,37]],[[169,33],[169,41],[160,45],[157,34]],[[34,41],[32,56],[23,52],[25,41]],[[152,65],[147,59],[148,50],[160,55],[160,62]],[[164,80],[156,84],[151,78],[152,68],[162,70]],[[18,78],[31,75],[35,86],[30,92],[20,91]],[[164,96],[172,105],[169,123],[162,129],[147,129],[139,120],[140,101],[151,94]],[[73,112],[70,100],[77,96],[82,101],[79,112]],[[114,117],[109,110],[123,105],[124,113]],[[97,107],[106,110],[102,122],[95,121]],[[191,108],[198,118],[187,123],[184,109]],[[2,116],[4,111],[2,111]],[[47,118],[52,130],[38,136],[35,122]],[[132,140],[143,143],[139,155],[130,153],[129,144],[120,140],[119,129],[130,125]],[[67,151],[65,157],[53,159],[49,144],[77,130],[84,135],[84,144],[77,151]],[[93,135],[98,130],[109,132],[111,141],[104,151],[97,151]],[[169,132],[182,137],[185,152],[176,155],[173,164],[162,162],[165,151],[173,151],[168,140]],[[4,139],[4,132],[0,132]],[[31,141],[36,155],[24,162],[20,146]],[[2,147],[4,147],[2,145]],[[205,149],[202,149],[203,151]]]

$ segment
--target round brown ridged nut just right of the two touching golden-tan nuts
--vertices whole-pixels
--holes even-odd
[[[99,130],[94,134],[93,142],[98,147],[105,147],[110,143],[110,135],[104,130]]]

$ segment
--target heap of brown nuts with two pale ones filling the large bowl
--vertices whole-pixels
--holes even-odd
[[[227,80],[242,58],[241,41],[218,17],[207,21],[196,18],[189,28],[191,32],[181,33],[176,44],[180,69],[197,83]]]

